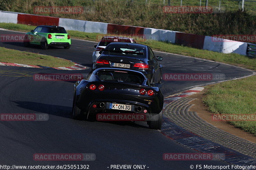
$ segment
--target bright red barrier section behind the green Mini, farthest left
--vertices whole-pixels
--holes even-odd
[[[26,24],[26,25],[32,25],[32,26],[38,26],[38,25],[59,26],[59,18],[39,16],[39,15],[29,15],[29,14],[18,14],[17,24]]]

